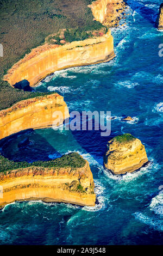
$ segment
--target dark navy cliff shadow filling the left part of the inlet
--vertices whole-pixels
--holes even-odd
[[[49,155],[55,158],[62,156],[53,145],[47,142],[46,138],[33,129],[1,139],[0,147],[1,155],[15,162],[50,161]]]

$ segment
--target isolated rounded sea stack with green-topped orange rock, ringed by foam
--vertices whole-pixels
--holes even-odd
[[[147,162],[145,146],[129,133],[114,137],[108,142],[104,155],[104,167],[112,173],[134,172]]]

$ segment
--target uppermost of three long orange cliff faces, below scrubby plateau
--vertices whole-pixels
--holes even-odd
[[[27,80],[31,87],[54,71],[108,62],[114,58],[114,43],[111,32],[97,38],[73,41],[63,46],[43,45],[32,50],[16,63],[4,76],[12,86]]]

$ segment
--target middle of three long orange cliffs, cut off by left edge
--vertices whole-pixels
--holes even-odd
[[[55,116],[55,111],[60,111],[62,116]],[[26,129],[52,126],[56,118],[56,125],[60,125],[68,117],[64,97],[57,93],[23,100],[0,111],[0,139]]]

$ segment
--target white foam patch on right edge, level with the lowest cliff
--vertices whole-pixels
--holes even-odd
[[[149,208],[151,211],[154,211],[155,214],[163,216],[163,193],[158,194],[158,196],[152,198]]]

